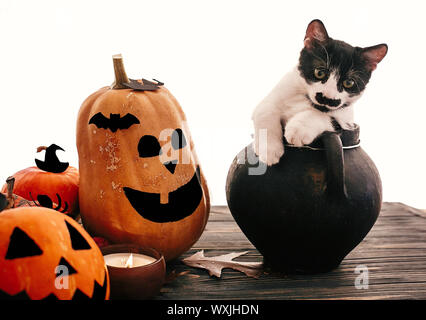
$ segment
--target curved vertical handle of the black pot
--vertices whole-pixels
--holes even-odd
[[[327,157],[326,193],[331,199],[347,199],[342,140],[336,132],[323,133],[321,140]]]

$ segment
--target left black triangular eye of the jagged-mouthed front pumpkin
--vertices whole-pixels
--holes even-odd
[[[43,250],[20,228],[15,227],[10,236],[6,260],[39,256]]]

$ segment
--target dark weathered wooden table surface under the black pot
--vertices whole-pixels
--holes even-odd
[[[263,273],[255,279],[224,269],[218,279],[181,262],[201,249],[206,256],[249,251],[235,260],[262,261],[228,208],[215,206],[199,241],[168,263],[168,272],[185,274],[165,284],[155,299],[426,299],[426,213],[402,203],[383,203],[367,237],[329,273]],[[359,265],[368,268],[368,289],[355,287]]]

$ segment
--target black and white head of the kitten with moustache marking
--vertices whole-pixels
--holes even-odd
[[[299,72],[307,83],[307,98],[324,112],[355,102],[388,51],[386,44],[360,48],[334,40],[320,20],[309,24],[304,44]]]

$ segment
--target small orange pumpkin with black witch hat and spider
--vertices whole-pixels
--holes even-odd
[[[35,159],[36,167],[18,171],[15,178],[15,194],[33,201],[34,205],[51,208],[74,216],[78,211],[79,173],[67,162],[60,162],[57,150],[63,149],[56,144],[39,147],[37,152],[45,150],[45,160]],[[6,186],[2,192],[6,191]]]

